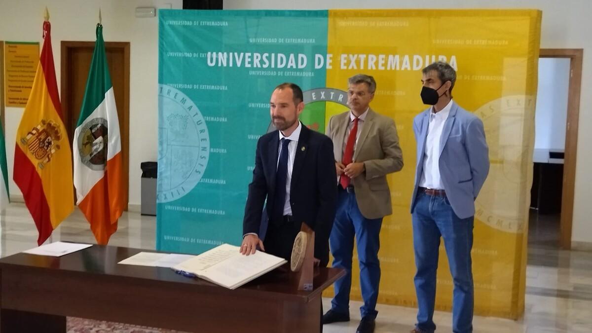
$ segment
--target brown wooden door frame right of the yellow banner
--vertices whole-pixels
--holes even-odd
[[[575,165],[578,152],[578,122],[580,120],[580,94],[584,50],[540,49],[539,57],[570,59],[570,85],[567,98],[567,122],[565,124],[565,156],[561,194],[561,222],[559,222],[559,247],[562,249],[571,249],[571,227],[574,218]]]

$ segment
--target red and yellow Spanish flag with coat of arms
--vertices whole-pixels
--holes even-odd
[[[37,225],[41,245],[74,209],[72,151],[63,122],[53,65],[49,20],[33,88],[14,149],[14,182]]]

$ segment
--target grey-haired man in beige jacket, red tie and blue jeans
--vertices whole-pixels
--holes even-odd
[[[387,174],[403,168],[403,154],[394,121],[369,107],[376,82],[369,75],[349,78],[350,111],[329,120],[326,134],[333,140],[337,171],[337,212],[329,237],[333,267],[346,276],[335,282],[332,308],[323,324],[349,321],[353,239],[358,245],[363,306],[360,333],[374,332],[380,281],[378,249],[382,217],[392,213]]]

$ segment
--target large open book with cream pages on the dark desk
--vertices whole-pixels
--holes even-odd
[[[287,262],[284,258],[262,251],[243,255],[239,249],[239,246],[222,244],[172,268],[185,276],[200,277],[220,286],[236,289]]]

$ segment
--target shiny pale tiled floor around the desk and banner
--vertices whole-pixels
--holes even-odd
[[[557,217],[531,214],[528,266],[526,273],[526,311],[523,319],[475,317],[475,332],[544,333],[592,332],[592,252],[557,249]],[[36,246],[37,229],[27,209],[12,203],[0,217],[0,255],[11,255]],[[119,230],[110,245],[155,248],[155,217],[124,213]],[[53,233],[53,241],[94,243],[88,222],[76,210]],[[329,309],[330,299],[324,299]],[[359,322],[359,302],[350,304],[352,321],[326,325],[324,332],[355,332]],[[378,305],[376,332],[408,332],[413,328],[416,310]],[[451,314],[435,314],[438,332],[451,332]]]

